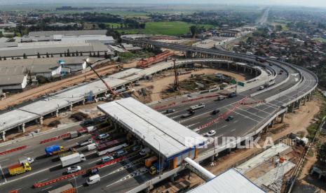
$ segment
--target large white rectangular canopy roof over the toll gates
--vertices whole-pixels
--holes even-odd
[[[207,142],[207,138],[131,97],[100,104],[97,108],[167,159]],[[187,138],[193,138],[193,142],[186,143]]]

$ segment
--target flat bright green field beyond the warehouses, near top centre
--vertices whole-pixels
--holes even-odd
[[[145,29],[121,29],[125,34],[157,34],[177,36],[189,33],[189,27],[193,25],[186,22],[147,22]],[[210,24],[199,24],[205,28],[213,27]]]

